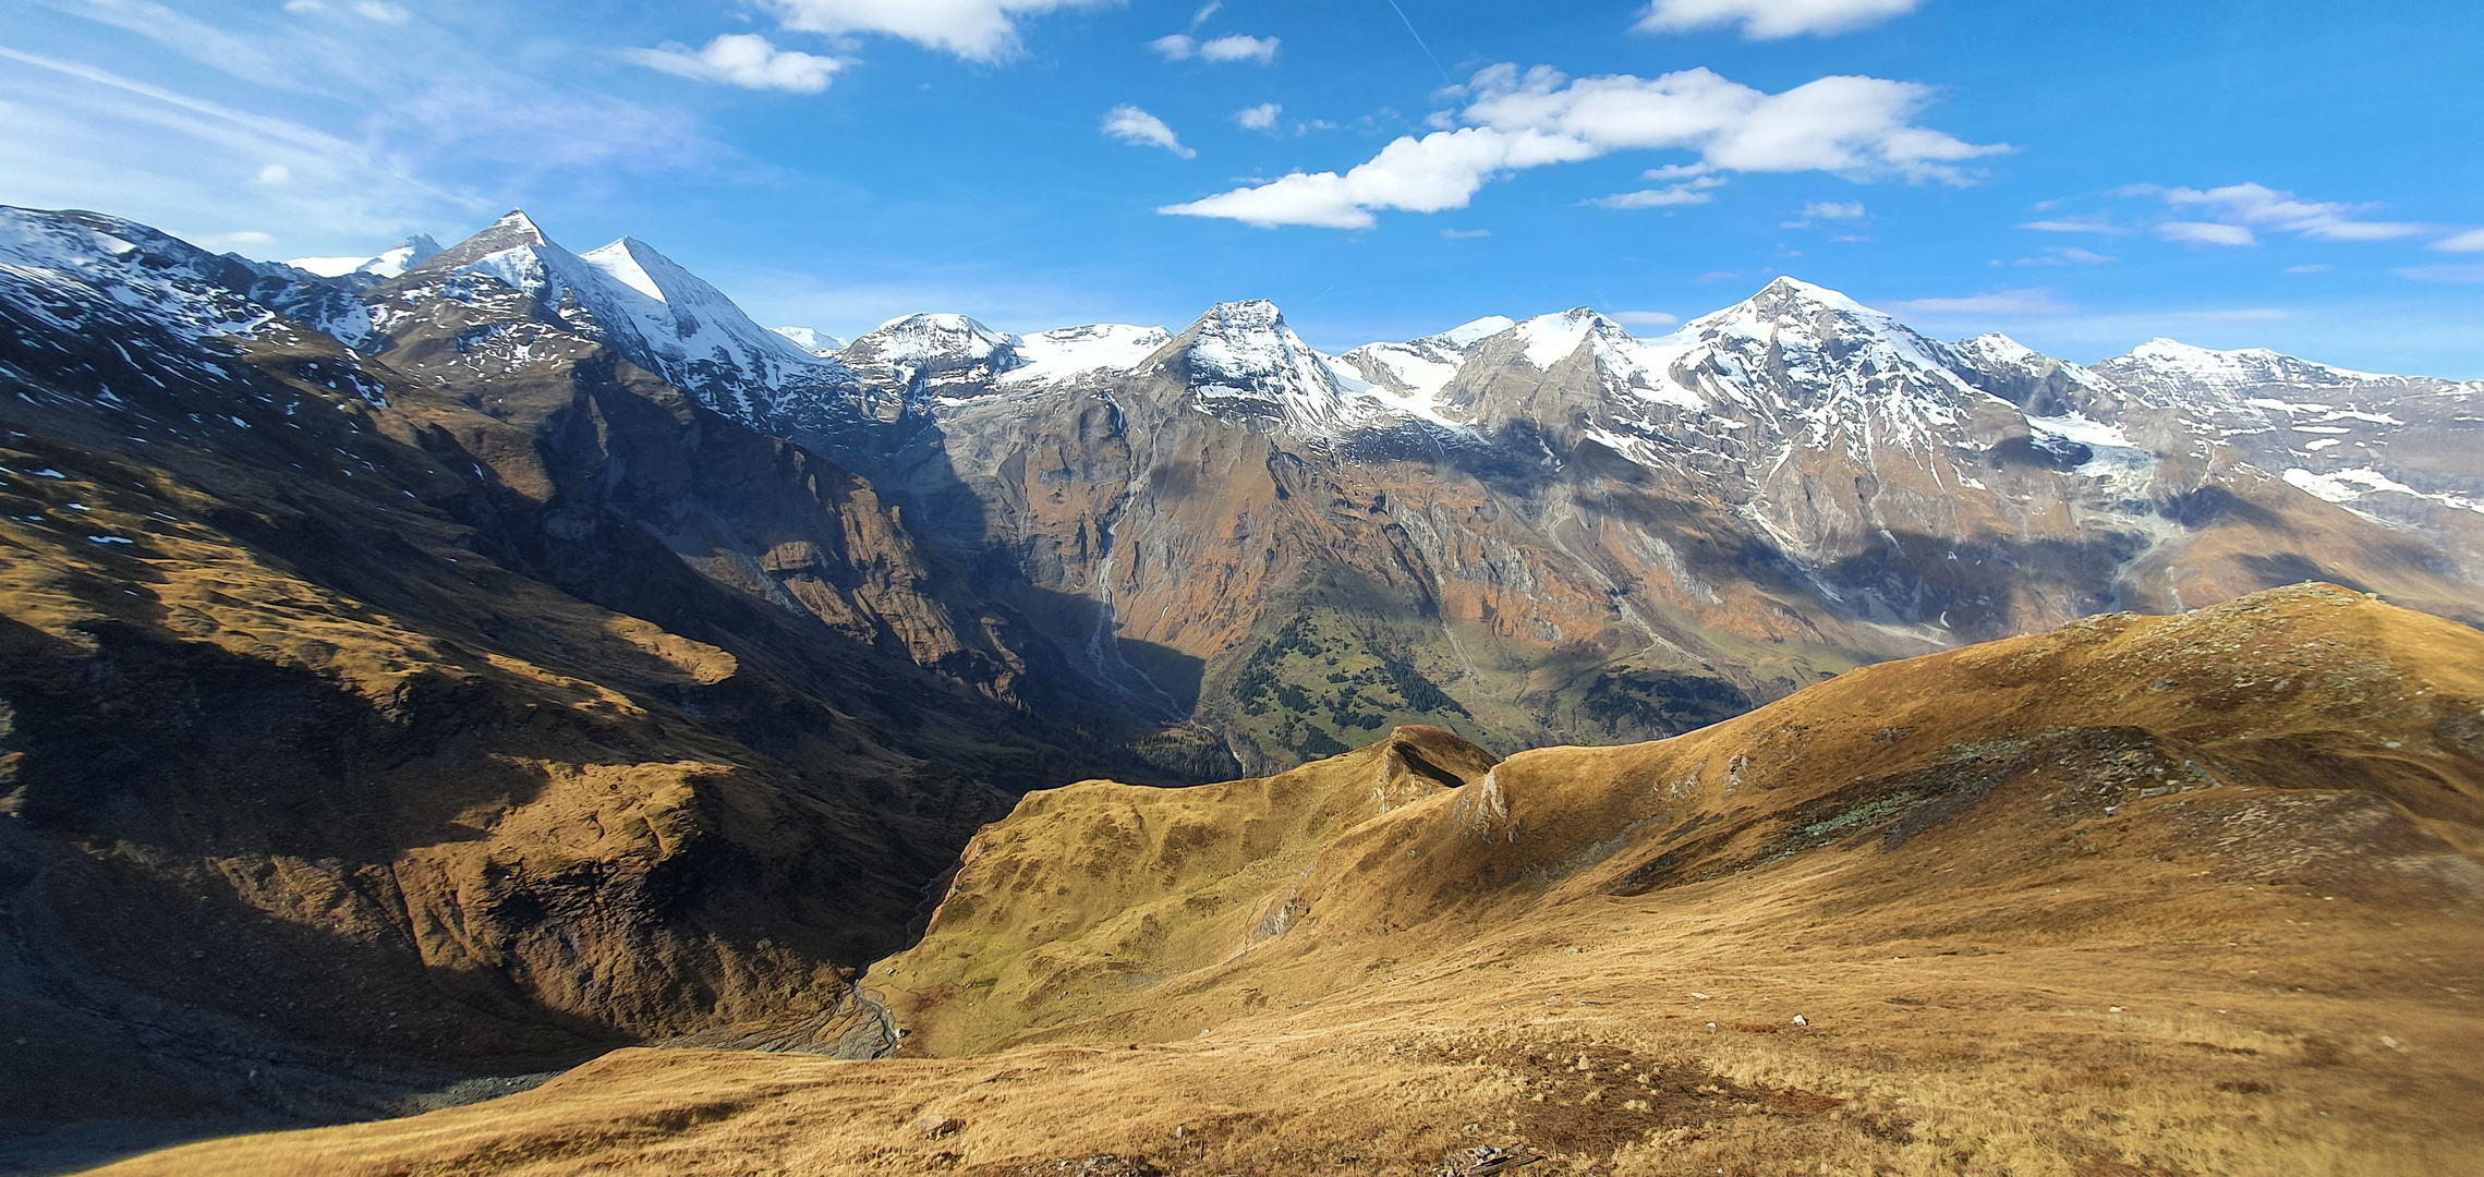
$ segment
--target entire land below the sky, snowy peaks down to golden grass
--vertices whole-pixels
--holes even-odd
[[[1769,983],[1848,1021],[1870,1011],[1828,961],[2052,954],[2044,998],[1982,966],[1908,981],[1985,1038],[1962,1011],[2131,996],[2074,956],[2119,931],[2007,899],[2116,872],[2151,889],[2114,911],[2183,944],[2258,936],[2275,909],[2226,891],[2273,884],[2315,886],[2320,919],[2362,904],[2355,951],[2409,986],[2472,993],[2484,944],[2484,382],[2174,340],[2077,365],[1796,278],[1664,338],[1577,308],[1324,355],[1240,300],[1180,330],[924,313],[847,343],[514,211],[450,248],[266,263],[0,209],[0,1170],[467,1105],[604,1055],[509,1100],[534,1100],[524,1150],[494,1152],[482,1105],[407,1122],[467,1132],[432,1142],[132,1165],[1418,1172],[1538,1147],[1776,1172],[1764,1132],[1714,1125],[1749,1105],[1853,1172],[2211,1172],[2126,1122],[2042,1125],[2129,1088],[2094,1075],[2273,1090],[2251,1055],[2330,1075],[2313,1100],[2400,1048],[2337,1045],[2380,1033],[2345,1006],[2248,1033],[2116,1006],[2146,1043],[2057,1058],[2069,1103],[2005,1130],[1898,1107],[1880,1038],[1788,1063],[1505,1011],[1620,993],[1590,936],[1679,963],[1702,1006],[1749,993],[1726,1030],[1766,1033],[1798,1011],[1756,1008],[1744,939],[1816,941],[1821,971]],[[2263,852],[2216,842],[2246,827]],[[1980,891],[1933,889],[1970,859]],[[1694,891],[1711,924],[1620,911]],[[2414,941],[2380,924],[2467,973],[2390,956]],[[1518,996],[1461,988],[1458,946]],[[1473,1008],[1426,1023],[1401,981]],[[2439,1045],[2390,1083],[2484,1090],[2452,1055],[2472,1013],[2417,1013]],[[1252,1085],[1314,1016],[1364,1045],[1299,1093],[1411,1120],[1302,1107],[1324,1142],[1269,1142],[1282,1093]],[[1098,1055],[1237,1018],[1259,1028],[1230,1058]],[[897,1078],[820,1058],[902,1035],[914,1058],[872,1063]],[[614,1053],[653,1043],[715,1050]],[[1543,1120],[1528,1068],[1555,1055],[1652,1120]],[[959,1110],[1021,1063],[1053,1103]],[[1453,1068],[1518,1112],[1423,1088]],[[1128,1083],[1232,1107],[1158,1125],[1113,1110]],[[760,1088],[862,1135],[790,1162]],[[1013,1135],[974,1137],[986,1115]],[[2484,1157],[2472,1125],[2400,1127],[2405,1172]],[[698,1145],[648,1145],[671,1137]],[[2251,1140],[2231,1157],[2268,1172],[2377,1147]]]

